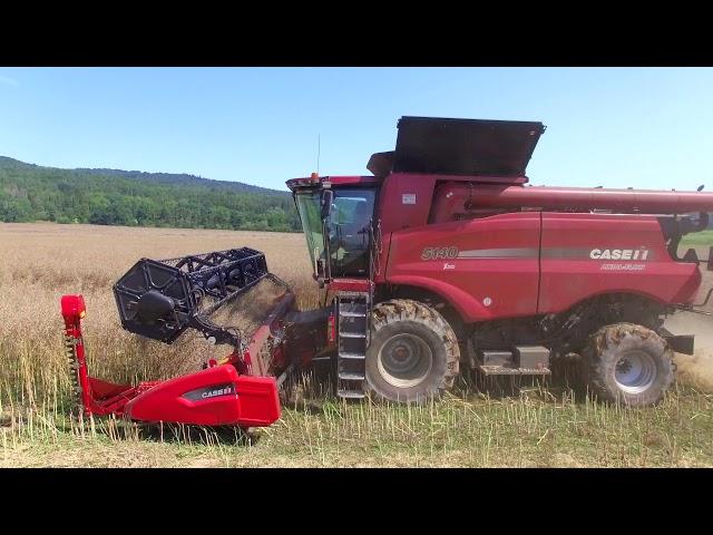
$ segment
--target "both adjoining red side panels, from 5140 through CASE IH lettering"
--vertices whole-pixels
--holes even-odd
[[[495,254],[423,260],[427,247]],[[641,247],[648,251],[646,261],[590,257],[593,250]],[[507,257],[512,251],[524,255]],[[433,291],[476,322],[561,312],[602,293],[691,303],[701,272],[696,263],[671,259],[653,215],[522,212],[394,232],[385,281]]]

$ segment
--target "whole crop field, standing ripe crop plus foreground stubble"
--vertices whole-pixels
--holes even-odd
[[[143,256],[243,245],[265,253],[301,308],[318,305],[323,295],[301,234],[0,223],[0,466],[713,466],[713,395],[694,381],[677,381],[646,409],[603,406],[538,383],[498,396],[460,381],[423,406],[325,396],[285,407],[281,420],[250,436],[72,420],[60,296],[85,295],[92,376],[173,377],[226,348],[197,334],[165,346],[126,333],[111,285]]]

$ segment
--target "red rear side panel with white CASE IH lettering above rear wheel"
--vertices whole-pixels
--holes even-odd
[[[687,303],[701,283],[697,264],[671,259],[651,215],[543,213],[541,255],[540,313],[607,292]]]

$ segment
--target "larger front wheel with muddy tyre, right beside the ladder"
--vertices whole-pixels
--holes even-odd
[[[378,398],[422,402],[453,385],[460,350],[432,308],[408,299],[374,307],[367,350],[367,386]]]

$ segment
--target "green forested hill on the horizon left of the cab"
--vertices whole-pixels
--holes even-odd
[[[0,156],[0,222],[301,230],[289,192],[194,175],[59,169]]]

